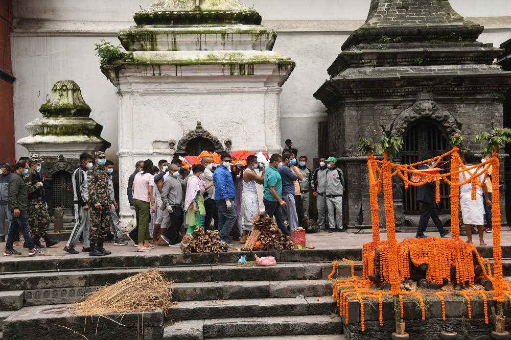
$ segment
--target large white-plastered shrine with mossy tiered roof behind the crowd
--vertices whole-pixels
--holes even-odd
[[[278,99],[295,64],[271,51],[276,34],[258,12],[238,0],[158,0],[133,18],[119,33],[124,59],[102,66],[120,100],[121,190],[136,160],[170,161],[176,145],[282,150]],[[121,195],[121,220],[132,216]]]

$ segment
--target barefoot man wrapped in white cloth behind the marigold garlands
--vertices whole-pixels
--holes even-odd
[[[465,166],[470,167],[473,166],[474,162],[474,154],[471,151],[467,151],[463,157],[463,163]],[[471,175],[480,172],[481,169],[475,168],[472,170],[467,170],[459,174],[459,183],[466,181],[470,178]],[[482,183],[484,178],[484,173],[478,176],[479,183]],[[486,246],[483,240],[484,231],[484,207],[483,207],[483,195],[486,204],[491,206],[492,201],[488,199],[488,190],[486,189],[486,185],[480,187],[476,185],[477,200],[472,200],[472,184],[469,182],[467,184],[463,184],[459,188],[459,205],[461,207],[461,214],[463,215],[463,222],[465,223],[467,229],[467,243],[472,245],[472,226],[477,227],[477,231],[479,233],[479,245]]]

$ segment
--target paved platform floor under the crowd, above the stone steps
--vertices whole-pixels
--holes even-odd
[[[427,236],[439,236],[437,232],[435,233],[426,233]],[[397,233],[398,242],[403,240],[404,238],[408,237],[414,237],[415,233]],[[473,238],[475,241],[475,245],[479,245],[479,238],[477,235],[474,235]],[[321,231],[316,234],[307,234],[307,245],[314,246],[315,249],[353,249],[353,248],[362,248],[362,245],[365,242],[369,242],[372,239],[371,234],[353,234],[349,232],[335,232],[335,233],[329,233],[328,231]],[[385,230],[383,229],[381,231],[381,239],[386,239],[387,235],[385,233]],[[462,239],[466,240],[467,236],[461,236]],[[492,234],[484,234],[484,241],[486,242],[486,247],[493,247],[492,242]],[[52,248],[48,248],[45,250],[41,255],[36,255],[37,258],[47,258],[47,259],[57,259],[61,257],[88,257],[88,253],[82,253],[77,255],[71,255],[66,252],[64,252],[62,249],[65,245],[65,241],[61,241],[60,244],[57,246],[54,246]],[[511,228],[509,227],[503,227],[502,233],[501,233],[501,245],[511,245]],[[243,248],[243,245],[240,244],[240,242],[234,241],[233,242],[233,248],[231,248],[229,251],[237,251],[238,248]],[[0,244],[0,249],[3,250],[5,247],[5,243]],[[149,252],[136,252],[136,248],[133,246],[133,242],[128,240],[127,246],[114,246],[113,243],[105,243],[104,244],[105,249],[112,252],[112,255],[114,256],[124,256],[124,255],[140,255],[144,256],[146,254],[180,254],[181,250],[179,248],[171,248],[168,246],[155,246],[154,249],[152,249]],[[3,261],[16,261],[16,259],[19,258],[25,258],[28,256],[28,250],[24,249],[22,246],[15,246],[15,249],[18,251],[21,251],[21,255],[18,256],[0,256],[0,262]],[[76,248],[78,251],[82,250],[82,245],[78,245]],[[296,250],[297,252],[299,250]],[[111,255],[110,255],[111,256]],[[35,256],[34,256],[35,257]]]

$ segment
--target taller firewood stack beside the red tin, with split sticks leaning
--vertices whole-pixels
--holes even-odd
[[[290,236],[282,234],[273,218],[260,212],[252,219],[254,228],[248,234],[245,250],[283,250],[294,249]]]

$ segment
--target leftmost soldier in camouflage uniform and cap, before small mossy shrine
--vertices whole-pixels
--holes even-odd
[[[27,215],[30,225],[30,235],[32,236],[34,244],[38,247],[43,247],[40,241],[40,239],[43,238],[46,242],[46,246],[51,247],[55,246],[60,241],[51,238],[50,235],[46,233],[51,220],[44,202],[42,179],[39,175],[41,163],[42,158],[37,154],[33,154],[29,159],[29,173],[23,178],[25,186],[27,187],[29,199]],[[26,244],[24,247],[28,248]]]

